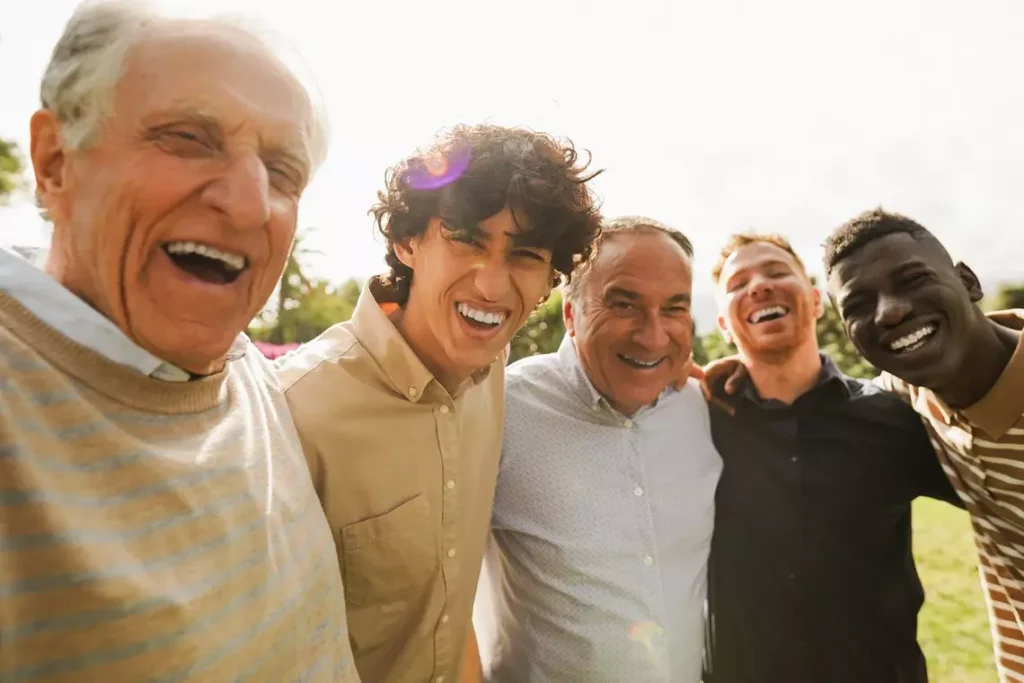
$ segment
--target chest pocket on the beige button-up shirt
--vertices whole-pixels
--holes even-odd
[[[356,607],[387,607],[429,595],[439,569],[424,494],[342,527],[341,548],[345,599]]]

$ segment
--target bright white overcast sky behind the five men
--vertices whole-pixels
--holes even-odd
[[[384,170],[488,120],[592,151],[605,213],[687,232],[698,291],[731,231],[786,233],[817,267],[825,232],[880,204],[984,282],[1024,279],[1020,0],[188,2],[261,15],[318,81],[333,139],[300,226],[321,276],[380,271],[367,210]],[[23,148],[75,4],[0,10],[0,136]],[[0,243],[45,240],[28,195],[0,208]]]

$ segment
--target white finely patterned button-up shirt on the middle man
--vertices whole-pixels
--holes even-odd
[[[635,416],[566,337],[508,369],[475,609],[496,683],[698,683],[722,461],[695,384]]]

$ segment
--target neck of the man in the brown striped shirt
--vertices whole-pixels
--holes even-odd
[[[949,382],[935,388],[935,394],[952,409],[977,403],[998,381],[1019,343],[1019,332],[984,317],[968,345],[971,351],[965,358],[967,367],[957,369]]]

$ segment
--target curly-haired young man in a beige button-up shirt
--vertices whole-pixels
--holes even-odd
[[[599,232],[587,167],[528,130],[439,136],[388,172],[372,210],[389,272],[351,321],[284,361],[367,683],[454,683],[464,659],[478,672],[505,349]]]

